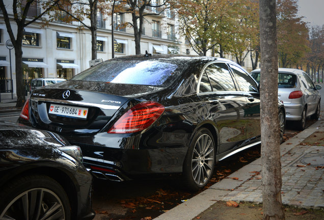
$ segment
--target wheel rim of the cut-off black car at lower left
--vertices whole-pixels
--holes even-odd
[[[53,191],[33,188],[15,197],[0,219],[65,219],[65,213],[60,198]]]

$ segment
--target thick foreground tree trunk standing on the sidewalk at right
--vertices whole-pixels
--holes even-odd
[[[263,219],[285,219],[281,201],[276,0],[260,0]]]

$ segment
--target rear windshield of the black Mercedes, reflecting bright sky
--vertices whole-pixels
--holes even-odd
[[[166,60],[111,60],[87,69],[71,80],[161,86],[176,77],[177,68],[177,64]]]

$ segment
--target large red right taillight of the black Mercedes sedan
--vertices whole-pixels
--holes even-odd
[[[164,108],[153,101],[139,103],[131,107],[107,132],[133,133],[144,130],[162,115]]]

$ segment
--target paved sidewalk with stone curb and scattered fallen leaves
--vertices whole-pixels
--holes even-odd
[[[307,137],[310,136],[324,138],[324,118],[280,146],[281,196],[283,204],[318,209],[324,208],[324,146],[308,143],[310,139]],[[261,203],[260,171],[261,158],[155,219],[194,219],[205,210],[212,209],[217,201]]]

